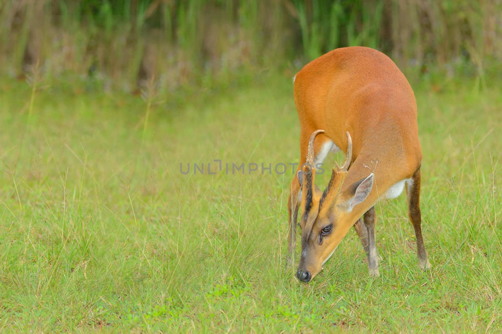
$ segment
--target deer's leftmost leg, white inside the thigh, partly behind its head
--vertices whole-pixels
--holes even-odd
[[[298,209],[300,207],[301,202],[301,189],[300,182],[298,181],[297,173],[302,169],[302,165],[305,163],[307,158],[307,150],[309,145],[310,135],[316,131],[317,129],[313,129],[312,131],[302,131],[301,140],[300,140],[300,163],[298,165],[298,169],[295,172],[295,176],[291,181],[290,185],[290,193],[288,198],[288,215],[289,215],[289,232],[288,232],[288,265],[293,265],[294,263],[294,254],[296,248],[296,225],[298,220]],[[329,137],[325,135],[318,135],[314,142],[314,164],[317,165],[322,163],[329,151],[336,151],[338,147],[333,144],[333,141],[329,139]],[[314,166],[315,167],[315,166]]]

